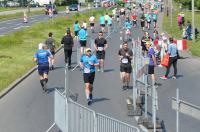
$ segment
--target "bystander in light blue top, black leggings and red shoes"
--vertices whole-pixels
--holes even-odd
[[[168,79],[168,74],[170,72],[170,67],[173,64],[174,67],[174,76],[173,79],[176,79],[177,76],[177,60],[178,60],[178,49],[176,44],[174,43],[174,39],[171,37],[169,38],[169,46],[168,46],[168,54],[169,54],[169,65],[166,67],[166,73],[164,76],[160,77],[161,79]]]

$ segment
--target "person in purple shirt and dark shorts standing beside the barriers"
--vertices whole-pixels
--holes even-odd
[[[146,44],[146,48],[148,49],[148,58],[149,58],[148,74],[151,75],[152,82],[154,82],[154,84],[152,85],[158,86],[159,84],[156,82],[155,71],[154,71],[156,67],[155,51],[154,51],[153,46],[151,46],[150,41],[147,41],[145,44]]]

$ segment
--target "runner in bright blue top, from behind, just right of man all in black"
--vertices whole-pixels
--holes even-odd
[[[81,46],[81,54],[84,54],[86,43],[87,43],[87,31],[84,29],[84,26],[81,26],[81,30],[78,32],[79,42]]]

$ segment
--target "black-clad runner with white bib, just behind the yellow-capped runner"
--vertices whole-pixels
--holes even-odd
[[[104,59],[105,59],[105,50],[108,48],[106,39],[103,37],[103,32],[100,31],[98,38],[94,41],[94,48],[96,50],[96,56],[99,61],[98,71],[104,72]]]

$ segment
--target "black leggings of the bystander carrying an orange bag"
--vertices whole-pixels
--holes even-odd
[[[166,71],[166,74],[165,76],[168,77],[168,74],[170,72],[170,67],[171,65],[173,64],[173,67],[174,67],[174,76],[177,75],[177,57],[170,57],[169,58],[169,65],[167,66],[167,71]]]

